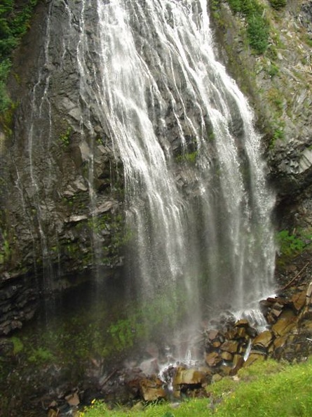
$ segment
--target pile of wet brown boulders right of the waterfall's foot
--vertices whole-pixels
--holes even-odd
[[[211,329],[205,336],[205,362],[212,380],[235,375],[242,366],[267,357],[302,360],[312,353],[312,282],[286,296],[262,300],[267,329],[257,332],[247,319]]]

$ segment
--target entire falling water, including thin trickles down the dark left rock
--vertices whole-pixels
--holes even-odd
[[[33,160],[43,113],[49,119],[47,152],[53,136],[49,65],[57,58],[49,54],[55,4],[55,9],[63,6],[66,22],[55,48],[57,71],[62,72],[69,58],[78,72],[79,93],[72,108],[79,107],[79,118],[73,117],[78,120],[73,126],[79,126],[81,142],[88,147],[90,222],[98,216],[94,152],[99,140],[108,140],[123,166],[128,246],[118,308],[111,295],[117,280],[101,282],[98,272],[93,295],[88,286],[90,299],[77,302],[72,324],[67,327],[64,315],[56,322],[54,314],[50,327],[60,336],[51,336],[48,328],[48,340],[57,339],[57,355],[62,343],[73,346],[72,363],[80,353],[114,355],[134,344],[145,327],[164,350],[165,332],[170,333],[175,352],[168,350],[168,356],[191,362],[197,358],[190,341],[194,336],[189,335],[196,334],[203,319],[227,309],[237,316],[245,312],[262,325],[257,300],[272,292],[274,196],[266,185],[254,115],[215,57],[207,0],[51,1],[46,66],[39,69],[32,91],[28,194],[19,173],[16,183],[25,211],[25,199],[32,199],[36,209],[46,272],[50,264],[36,192],[41,178]],[[52,181],[47,167],[45,180]],[[94,233],[95,258],[99,243]],[[94,261],[99,263],[100,256]],[[79,314],[83,324],[77,330]],[[87,315],[93,323],[87,323]],[[73,343],[79,331],[84,336]],[[79,345],[85,340],[87,348]]]

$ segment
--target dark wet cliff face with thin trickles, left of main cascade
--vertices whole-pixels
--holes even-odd
[[[105,126],[81,96],[80,6],[39,2],[13,59],[13,107],[0,133],[4,333],[14,317],[26,318],[15,301],[33,305],[38,282],[40,291],[53,291],[62,274],[121,262],[123,178]],[[43,279],[13,281],[28,272]]]

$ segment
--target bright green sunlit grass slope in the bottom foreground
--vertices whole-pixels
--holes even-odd
[[[128,410],[110,410],[102,402],[93,402],[79,417],[307,417],[312,409],[311,384],[311,358],[294,365],[269,359],[241,369],[238,378],[209,385],[209,398],[175,405],[138,404]]]

